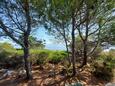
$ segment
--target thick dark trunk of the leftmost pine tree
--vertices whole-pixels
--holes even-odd
[[[25,69],[26,69],[26,75],[27,79],[32,79],[32,72],[31,72],[31,65],[28,61],[29,57],[29,41],[28,37],[31,32],[31,17],[30,17],[30,9],[29,9],[29,0],[24,0],[24,10],[26,15],[26,21],[27,21],[27,30],[24,32],[24,61],[25,61]]]

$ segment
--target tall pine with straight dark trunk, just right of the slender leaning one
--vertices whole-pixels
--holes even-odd
[[[83,1],[78,0],[52,0],[48,3],[46,11],[46,20],[48,21],[46,26],[49,26],[48,30],[53,32],[55,36],[61,36],[66,44],[68,52],[68,41],[72,43],[71,49],[71,62],[73,75],[75,75],[75,19],[76,13],[82,6]],[[77,10],[77,11],[76,11]],[[60,37],[59,36],[59,37]],[[58,38],[59,38],[58,37]],[[70,38],[70,39],[68,39]],[[69,55],[68,55],[69,56]]]

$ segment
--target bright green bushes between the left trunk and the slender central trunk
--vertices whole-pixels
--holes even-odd
[[[29,60],[33,64],[44,64],[46,62],[58,63],[67,57],[67,53],[64,51],[51,51],[51,50],[30,50]]]

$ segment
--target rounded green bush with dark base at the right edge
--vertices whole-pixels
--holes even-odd
[[[115,68],[115,52],[102,53],[93,63],[93,67],[93,73],[96,77],[106,81],[111,80],[113,77],[113,69]]]

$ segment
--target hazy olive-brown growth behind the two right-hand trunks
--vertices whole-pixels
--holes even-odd
[[[84,44],[83,44],[83,41],[82,39],[77,36],[76,38],[76,41],[75,41],[75,56],[77,57],[76,61],[77,63],[83,61],[83,50],[84,50]],[[100,52],[102,51],[102,46],[100,44],[96,44],[97,42],[95,42],[94,40],[92,40],[92,38],[88,38],[87,40],[87,53],[89,54],[92,49],[94,47],[96,47],[96,49],[90,54],[90,60],[93,58],[96,58],[99,56]],[[70,44],[70,48],[71,48],[71,44]]]

